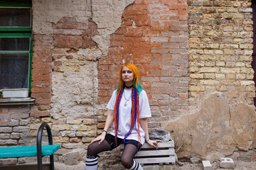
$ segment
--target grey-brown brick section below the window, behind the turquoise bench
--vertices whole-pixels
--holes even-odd
[[[0,106],[0,147],[29,145],[30,106]],[[25,158],[0,159],[0,165],[23,164]]]

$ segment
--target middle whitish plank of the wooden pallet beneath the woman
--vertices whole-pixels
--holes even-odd
[[[150,156],[164,156],[174,155],[174,149],[162,149],[162,150],[142,150],[137,153],[136,157],[150,157]]]

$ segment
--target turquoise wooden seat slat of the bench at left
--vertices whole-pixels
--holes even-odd
[[[42,156],[52,155],[60,149],[60,145],[42,145]],[[8,157],[36,157],[36,146],[0,147],[0,158]]]

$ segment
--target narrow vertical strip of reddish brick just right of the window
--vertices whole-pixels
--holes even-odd
[[[36,98],[32,117],[48,116],[51,102],[53,37],[33,35],[31,97]]]

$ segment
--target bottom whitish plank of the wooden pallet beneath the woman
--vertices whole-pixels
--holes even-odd
[[[139,164],[168,164],[175,163],[175,157],[156,157],[156,158],[139,158],[135,159]]]

